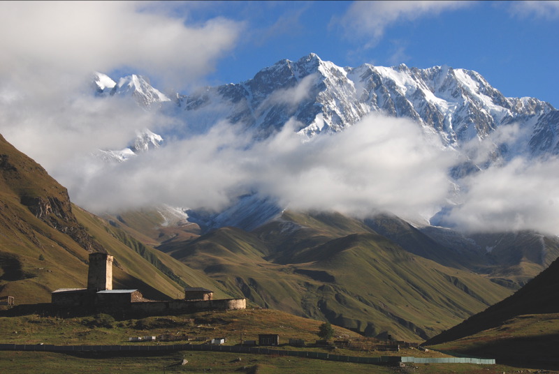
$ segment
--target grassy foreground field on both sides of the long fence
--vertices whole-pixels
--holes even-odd
[[[257,340],[258,334],[279,334],[280,347],[286,350],[331,352],[347,356],[379,357],[384,355],[414,357],[447,357],[440,352],[422,352],[413,348],[400,352],[374,349],[349,350],[285,345],[289,338],[307,343],[317,340],[322,322],[308,320],[288,313],[266,309],[247,309],[215,313],[196,313],[165,317],[146,317],[140,320],[113,320],[106,315],[92,317],[41,317],[22,315],[0,317],[0,343],[52,345],[143,345],[173,344],[177,342],[131,343],[131,336],[159,336],[187,334],[193,338],[225,337],[226,345]],[[358,341],[358,334],[335,327],[335,339]],[[201,341],[191,342],[193,344]],[[188,361],[180,365],[182,360]],[[239,360],[240,359],[240,360]],[[179,364],[179,365],[173,365]],[[525,368],[501,365],[474,364],[406,364],[405,366],[376,366],[351,364],[298,357],[276,357],[266,354],[226,352],[52,352],[0,351],[0,373],[527,373]],[[167,367],[169,366],[169,367]],[[540,371],[542,373],[542,371]],[[559,373],[548,371],[548,373]]]

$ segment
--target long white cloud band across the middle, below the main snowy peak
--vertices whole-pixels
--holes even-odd
[[[294,126],[290,121],[251,146],[247,134],[220,124],[126,163],[96,167],[87,177],[80,170],[90,167],[61,165],[59,179],[75,202],[96,212],[161,203],[222,209],[238,195],[259,190],[291,209],[356,216],[386,210],[415,217],[447,196],[451,158],[417,142],[427,135],[410,121],[371,116],[343,133],[305,143]]]

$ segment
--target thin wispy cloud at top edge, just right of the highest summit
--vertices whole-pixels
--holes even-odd
[[[347,38],[368,38],[365,48],[373,47],[391,24],[438,15],[470,5],[471,1],[354,1],[347,13],[335,19]]]

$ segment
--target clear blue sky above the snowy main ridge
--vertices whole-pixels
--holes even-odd
[[[395,12],[387,7],[398,7],[397,1],[384,8],[379,1],[359,3],[372,23]],[[350,1],[216,1],[179,8],[187,22],[224,17],[244,23],[235,47],[207,76],[210,84],[247,80],[280,59],[315,52],[339,66],[476,70],[505,96],[533,96],[559,107],[558,1],[434,1],[424,10],[413,3],[419,1],[400,3],[397,15],[384,16],[377,35],[352,29],[361,21],[351,14],[356,4]]]

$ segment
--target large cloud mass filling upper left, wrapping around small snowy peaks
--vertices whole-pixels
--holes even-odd
[[[170,119],[118,98],[92,97],[92,73],[146,73],[158,87],[201,80],[231,50],[242,23],[188,23],[195,3],[0,2],[0,133],[49,172],[99,148],[120,149],[138,129]],[[61,173],[64,174],[64,173]]]

